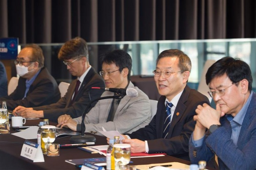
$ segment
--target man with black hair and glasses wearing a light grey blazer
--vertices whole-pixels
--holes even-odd
[[[132,58],[123,50],[114,50],[101,59],[102,71],[107,88],[135,88],[137,97],[124,96],[121,99],[104,99],[88,112],[84,118],[85,132],[102,135],[102,127],[107,131],[117,130],[120,133],[131,133],[144,127],[150,122],[151,109],[148,96],[130,81]],[[116,95],[113,92],[104,92],[101,97]],[[58,119],[61,128],[67,126],[74,131],[81,131],[82,117],[71,119],[69,115]]]

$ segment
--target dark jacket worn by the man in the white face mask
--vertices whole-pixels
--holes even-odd
[[[17,106],[37,107],[55,103],[60,99],[60,90],[56,80],[50,75],[46,67],[43,67],[34,82],[29,87],[27,96],[23,99],[26,91],[26,78],[19,78],[18,86],[9,96],[1,97],[6,100],[7,108],[15,109]]]

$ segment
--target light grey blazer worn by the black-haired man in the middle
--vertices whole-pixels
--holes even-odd
[[[85,132],[91,132],[97,135],[104,127],[107,131],[118,131],[121,134],[133,132],[144,127],[150,122],[151,109],[148,96],[138,87],[134,87],[129,82],[128,88],[135,88],[138,91],[138,97],[124,96],[118,104],[113,121],[107,121],[113,98],[99,100],[98,103],[85,116]],[[113,96],[113,92],[104,92],[101,97]],[[80,128],[82,117],[74,119]]]

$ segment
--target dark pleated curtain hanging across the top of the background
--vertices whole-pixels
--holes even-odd
[[[256,37],[255,0],[0,0],[0,38],[19,43]]]

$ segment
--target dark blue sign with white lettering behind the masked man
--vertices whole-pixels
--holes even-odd
[[[18,38],[0,38],[0,59],[16,59],[18,44]]]

